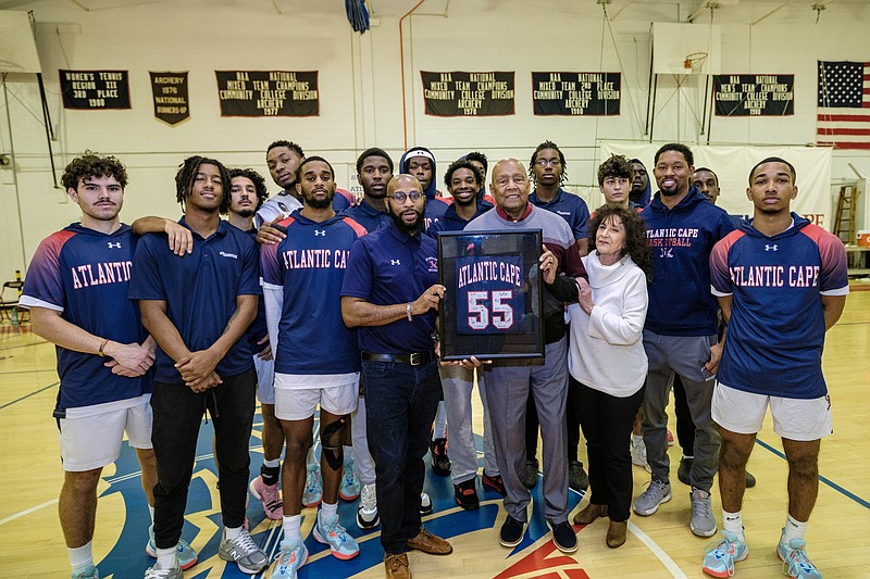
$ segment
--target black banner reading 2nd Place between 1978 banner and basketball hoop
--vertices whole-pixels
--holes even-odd
[[[618,115],[621,73],[532,73],[536,115]]]

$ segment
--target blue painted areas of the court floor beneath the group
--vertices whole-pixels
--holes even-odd
[[[259,414],[254,420],[260,420]],[[261,421],[254,424],[257,435],[259,435],[261,428]],[[222,526],[217,492],[214,488],[210,488],[210,484],[213,486],[217,479],[217,469],[211,448],[212,432],[211,423],[202,425],[183,531],[184,539],[195,546],[201,545],[204,539],[204,546],[199,547],[199,563],[186,571],[185,577],[188,579],[202,579],[210,576],[222,578],[262,577],[263,574],[254,576],[243,574],[235,564],[227,564],[217,557]],[[477,444],[481,444],[480,437],[477,437]],[[251,477],[253,477],[259,473],[262,464],[261,441],[258,436],[251,436],[250,448]],[[103,495],[112,493],[121,493],[123,495],[126,505],[126,519],[124,520],[124,529],[119,542],[109,555],[98,564],[100,575],[101,577],[108,577],[109,575],[114,577],[141,577],[145,569],[153,565],[154,559],[145,553],[145,545],[148,541],[148,506],[141,490],[139,464],[136,461],[136,454],[126,443],[117,462],[115,475],[107,477],[105,480],[110,483],[110,488]],[[539,494],[540,487],[540,484],[537,484],[532,491],[534,507],[525,538],[522,543],[514,547],[511,554],[526,549],[549,531],[544,518],[543,507],[538,507],[538,505],[544,504]],[[453,500],[450,477],[433,475],[428,468],[427,456],[425,490],[432,498],[434,513],[425,517],[424,524],[426,529],[433,533],[450,539],[480,529],[493,529],[495,527],[501,496],[484,488],[480,480],[477,482],[477,491],[482,503],[481,508],[477,511],[458,508]],[[574,492],[569,493],[571,508],[580,502],[581,496]],[[484,504],[487,502],[488,504]],[[357,501],[339,501],[338,512],[348,532],[360,541],[360,554],[351,561],[338,561],[330,555],[328,546],[315,541],[309,532],[306,537],[309,559],[299,571],[300,578],[348,577],[383,565],[384,551],[378,540],[380,527],[369,532],[363,532],[357,527],[355,521]],[[274,555],[282,540],[281,521],[265,519],[261,503],[253,498],[250,500],[247,514],[251,537],[266,554]],[[304,518],[315,517],[316,509],[304,508],[302,516]],[[195,521],[199,521],[199,524]],[[303,520],[303,532],[312,524],[313,520]],[[208,537],[203,537],[203,533],[208,533]]]

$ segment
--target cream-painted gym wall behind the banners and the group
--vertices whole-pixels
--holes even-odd
[[[16,10],[33,10],[38,23],[37,45],[57,130],[52,148],[58,176],[70,159],[85,149],[117,154],[127,164],[130,177],[122,214],[125,221],[146,213],[174,216],[178,207],[172,177],[189,154],[213,155],[227,165],[252,166],[266,174],[265,147],[286,138],[299,142],[307,152],[330,159],[336,165],[339,186],[348,186],[344,176],[352,173],[350,167],[361,150],[378,146],[398,162],[407,130],[408,146],[433,149],[439,169],[470,150],[482,150],[490,159],[515,155],[527,160],[538,142],[554,140],[568,156],[571,184],[580,189],[595,180],[599,142],[650,140],[650,135],[644,134],[649,25],[681,22],[696,4],[635,3],[612,21],[611,36],[600,7],[592,0],[433,2],[437,10],[431,8],[428,14],[421,10],[422,15],[410,16],[405,23],[406,125],[398,24],[401,11],[374,14],[378,25],[360,36],[350,29],[343,2],[321,2],[313,11],[308,10],[311,2],[297,3],[299,10],[282,14],[266,0],[235,5],[204,0],[128,2],[124,8],[89,12],[65,1],[16,2]],[[678,88],[678,79],[662,76],[656,96],[655,141],[706,143],[708,137],[712,144],[815,141],[816,61],[870,60],[870,36],[866,34],[870,7],[832,2],[819,24],[815,23],[816,13],[806,7],[784,9],[751,26],[749,23],[769,10],[770,4],[765,4],[741,2],[739,10],[717,11],[722,72],[795,74],[795,115],[751,119],[713,116],[709,135],[701,134],[699,78],[683,78],[683,86]],[[709,14],[698,22],[701,20],[709,23]],[[129,71],[133,108],[64,110],[58,68]],[[320,116],[222,118],[215,70],[318,70]],[[515,71],[517,113],[490,118],[426,116],[421,70]],[[622,71],[622,114],[535,117],[531,72],[559,70]],[[149,71],[189,71],[190,119],[169,127],[153,117]],[[14,143],[15,174],[0,167],[0,279],[24,268],[41,238],[78,215],[63,191],[52,188],[33,76],[10,74],[7,92],[12,130],[0,96],[0,153],[11,151]],[[832,179],[854,178],[849,163],[870,175],[870,153],[835,151]],[[862,215],[860,228],[868,228],[868,223],[870,218]]]

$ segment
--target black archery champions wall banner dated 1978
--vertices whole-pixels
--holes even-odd
[[[420,71],[425,112],[433,116],[514,114],[514,74]]]

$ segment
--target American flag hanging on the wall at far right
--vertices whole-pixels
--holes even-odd
[[[870,62],[819,61],[819,144],[870,149]]]

